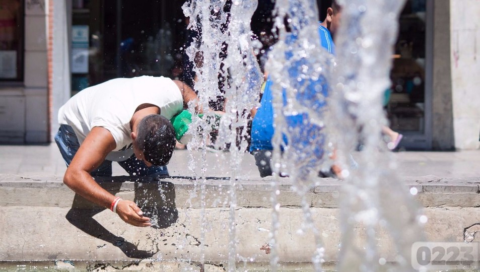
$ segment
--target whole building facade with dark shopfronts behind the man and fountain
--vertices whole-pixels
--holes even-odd
[[[0,143],[43,144],[60,106],[116,77],[188,78],[192,33],[182,3],[133,0],[0,0]],[[320,1],[320,11],[325,8]],[[271,4],[260,1],[252,29],[275,39]],[[406,149],[478,149],[480,1],[408,0],[399,17],[391,128]]]

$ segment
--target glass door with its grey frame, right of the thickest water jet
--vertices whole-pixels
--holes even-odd
[[[431,149],[432,0],[408,0],[399,18],[391,86],[384,106],[400,148]]]

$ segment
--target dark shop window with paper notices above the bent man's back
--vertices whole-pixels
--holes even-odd
[[[186,38],[182,5],[160,0],[74,0],[73,94],[113,78],[181,78]]]

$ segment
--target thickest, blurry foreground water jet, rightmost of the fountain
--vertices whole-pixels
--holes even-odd
[[[339,1],[340,2],[340,1]],[[386,229],[398,251],[399,271],[409,271],[409,250],[422,241],[419,207],[391,169],[381,141],[386,125],[381,97],[389,86],[391,55],[403,1],[341,1],[342,21],[336,39],[337,62],[331,119],[336,125],[338,157],[346,184],[341,203],[342,247],[339,269],[379,271],[377,235]],[[340,121],[341,120],[341,121]],[[362,142],[358,169],[346,167],[349,153]],[[356,241],[365,228],[362,245]]]

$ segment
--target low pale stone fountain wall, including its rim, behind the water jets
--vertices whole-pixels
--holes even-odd
[[[143,180],[141,187],[135,186],[127,176],[99,182],[116,195],[134,200],[144,197],[145,191],[159,192],[157,181],[146,181]],[[271,229],[271,181],[271,178],[237,181],[235,231],[239,263],[260,265],[269,261],[266,248]],[[341,235],[338,201],[342,182],[318,178],[318,185],[306,195],[313,220],[322,235],[328,263],[338,259]],[[424,176],[405,177],[403,182],[405,189],[417,191],[415,198],[428,217],[425,232],[429,241],[460,242],[464,235],[472,241],[478,240],[474,234],[480,218],[480,178]],[[60,177],[2,174],[0,260],[96,263],[135,263],[140,259],[200,263],[205,260],[225,264],[229,249],[230,181],[219,177],[205,180],[203,207],[200,186],[194,183],[188,177],[162,179],[160,192],[163,196],[162,193],[147,194],[154,199],[145,206],[161,203],[160,206],[167,207],[171,213],[162,214],[164,220],[159,220],[156,228],[137,228],[127,225],[111,211],[102,211],[76,197]],[[304,215],[300,197],[291,189],[289,178],[282,178],[279,187],[280,261],[308,264],[315,244],[309,231],[301,231]],[[204,218],[203,223],[201,218]],[[387,262],[393,262],[395,251],[390,237],[382,229],[378,233],[380,254]],[[362,226],[359,226],[352,243],[362,243],[364,239]]]

